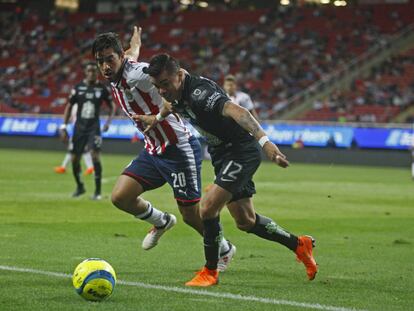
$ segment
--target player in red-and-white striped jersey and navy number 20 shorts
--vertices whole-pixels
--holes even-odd
[[[92,54],[101,74],[111,84],[115,102],[143,132],[145,125],[135,122],[132,116],[157,114],[163,106],[160,94],[142,70],[148,64],[126,57],[115,33],[98,35]],[[201,148],[198,140],[174,114],[160,121],[144,136],[145,148],[116,182],[112,192],[113,204],[153,225],[142,242],[144,249],[151,249],[161,235],[176,223],[176,219],[174,215],[158,210],[140,195],[168,182],[184,222],[203,235],[199,213]],[[219,253],[224,270],[235,253],[235,247],[221,238]]]

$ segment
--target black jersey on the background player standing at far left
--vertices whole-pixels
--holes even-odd
[[[78,105],[75,128],[78,131],[99,129],[99,112],[103,102],[110,103],[111,96],[106,86],[100,82],[78,83],[71,91],[70,105]]]

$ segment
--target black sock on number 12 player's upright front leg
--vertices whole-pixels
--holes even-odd
[[[206,267],[210,270],[217,269],[219,259],[221,226],[220,218],[203,220],[204,225],[204,255],[206,257]]]

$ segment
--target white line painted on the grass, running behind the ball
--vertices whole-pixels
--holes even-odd
[[[54,277],[60,277],[60,278],[71,278],[72,277],[70,274],[67,274],[67,273],[42,271],[42,270],[29,269],[29,268],[19,268],[19,267],[12,267],[12,266],[1,266],[0,265],[0,270],[13,271],[13,272],[24,272],[24,273],[32,273],[32,274],[41,274],[41,275],[54,276]],[[306,309],[315,309],[315,310],[363,311],[361,309],[353,309],[353,308],[350,309],[350,308],[344,308],[344,307],[335,307],[335,306],[322,305],[322,304],[318,304],[318,303],[305,303],[305,302],[297,302],[297,301],[284,300],[284,299],[272,299],[272,298],[262,298],[262,297],[256,297],[256,296],[244,296],[244,295],[223,293],[223,292],[222,293],[209,292],[209,291],[206,291],[206,290],[195,290],[195,289],[173,287],[173,286],[153,285],[153,284],[147,284],[147,283],[142,283],[142,282],[130,282],[130,281],[118,280],[117,284],[125,285],[125,286],[148,288],[148,289],[157,289],[157,290],[161,290],[161,291],[165,291],[165,292],[192,294],[192,295],[199,295],[199,296],[209,296],[209,297],[214,297],[214,298],[232,299],[232,300],[248,301],[248,302],[259,302],[259,303],[272,304],[272,305],[285,305],[285,306],[292,306],[292,307],[306,308]]]

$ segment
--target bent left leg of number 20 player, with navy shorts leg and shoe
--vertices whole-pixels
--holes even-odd
[[[156,246],[161,236],[177,222],[174,215],[158,210],[140,197],[144,191],[156,189],[165,183],[151,157],[143,150],[125,168],[112,191],[112,203],[116,207],[153,225],[142,241],[145,250]]]

